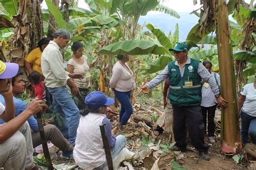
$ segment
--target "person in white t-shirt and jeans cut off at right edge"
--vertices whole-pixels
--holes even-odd
[[[256,73],[253,83],[246,84],[240,92],[238,111],[241,114],[242,144],[248,143],[250,134],[252,143],[256,144]]]

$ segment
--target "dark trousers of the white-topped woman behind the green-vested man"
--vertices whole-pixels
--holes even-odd
[[[205,124],[205,132],[206,132],[206,122],[208,119],[208,125],[207,125],[207,132],[208,136],[214,136],[215,131],[215,123],[214,123],[214,117],[215,117],[215,111],[216,111],[217,105],[213,105],[212,107],[202,107],[202,115],[204,118],[204,124]]]

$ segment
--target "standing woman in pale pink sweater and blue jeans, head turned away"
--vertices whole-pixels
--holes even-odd
[[[133,112],[130,95],[135,84],[132,70],[126,64],[129,61],[129,55],[117,55],[117,59],[118,61],[112,70],[110,88],[114,91],[114,95],[121,103],[119,121],[121,125],[125,125]]]

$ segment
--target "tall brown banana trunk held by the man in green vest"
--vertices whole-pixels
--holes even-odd
[[[221,151],[232,154],[241,149],[241,144],[230,26],[226,1],[217,0],[215,5],[221,95],[228,101],[228,107],[221,111]]]

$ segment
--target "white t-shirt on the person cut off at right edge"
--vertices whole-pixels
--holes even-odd
[[[253,83],[246,84],[240,94],[245,96],[245,102],[241,110],[250,116],[256,117],[256,89]]]

